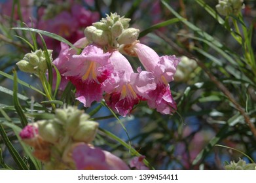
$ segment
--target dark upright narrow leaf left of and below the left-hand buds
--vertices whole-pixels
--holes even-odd
[[[16,112],[18,113],[18,116],[20,118],[20,122],[23,127],[27,125],[27,118],[22,110],[22,107],[20,106],[20,102],[18,101],[18,82],[17,82],[17,73],[16,71],[13,71],[14,73],[14,85],[13,85],[13,102],[14,107],[16,109]]]

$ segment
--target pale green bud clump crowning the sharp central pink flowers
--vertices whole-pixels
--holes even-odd
[[[111,13],[100,22],[86,27],[86,38],[101,46],[118,48],[120,44],[131,44],[137,40],[139,29],[129,28],[130,18],[120,17],[117,13]]]

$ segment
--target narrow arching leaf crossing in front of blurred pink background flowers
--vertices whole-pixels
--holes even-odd
[[[23,30],[23,31],[32,31],[32,32],[35,32],[35,33],[40,33],[42,35],[46,35],[46,36],[51,37],[53,39],[56,39],[58,41],[65,42],[65,44],[68,44],[69,46],[71,46],[71,48],[74,48],[75,50],[77,50],[77,52],[79,52],[79,49],[76,48],[73,44],[71,44],[71,42],[67,41],[66,39],[64,39],[60,35],[56,35],[55,33],[50,33],[50,32],[47,32],[47,31],[42,31],[42,30],[33,29],[33,28],[26,28],[26,27],[13,27],[12,29],[14,29],[14,30]]]

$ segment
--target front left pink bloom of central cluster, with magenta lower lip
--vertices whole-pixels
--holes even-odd
[[[93,101],[103,99],[101,85],[113,71],[109,56],[109,53],[104,54],[98,46],[89,45],[80,55],[73,55],[64,61],[67,71],[63,75],[75,85],[77,100],[84,107],[90,107]]]

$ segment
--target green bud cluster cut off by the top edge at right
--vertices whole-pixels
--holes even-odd
[[[216,5],[217,12],[223,16],[230,14],[238,14],[244,7],[244,0],[219,0],[219,4]]]

